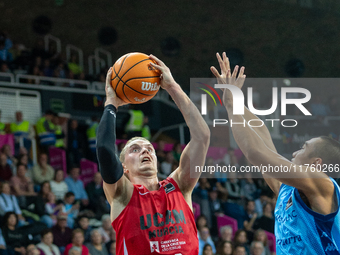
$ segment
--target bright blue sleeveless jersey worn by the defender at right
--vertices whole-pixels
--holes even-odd
[[[312,211],[296,188],[281,185],[275,207],[277,255],[340,254],[340,188],[332,181],[337,209],[328,215]]]

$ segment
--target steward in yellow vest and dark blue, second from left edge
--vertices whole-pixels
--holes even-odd
[[[48,152],[50,146],[55,145],[55,126],[52,123],[52,118],[56,114],[53,111],[46,111],[45,115],[41,117],[36,124],[37,135],[39,136],[39,143],[41,150]]]

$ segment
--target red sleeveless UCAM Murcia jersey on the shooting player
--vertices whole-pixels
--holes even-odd
[[[130,202],[112,222],[118,255],[197,255],[194,215],[170,177],[155,191],[133,185]]]

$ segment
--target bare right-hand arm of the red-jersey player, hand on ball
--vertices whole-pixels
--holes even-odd
[[[200,166],[204,165],[210,143],[210,130],[197,107],[173,79],[169,68],[158,58],[152,55],[150,58],[157,62],[157,65],[152,65],[162,72],[161,87],[175,101],[189,127],[191,140],[181,155],[178,169],[172,174],[184,197],[187,198],[186,195],[191,196],[199,178],[199,174],[195,178],[190,178],[190,162],[195,162]]]

